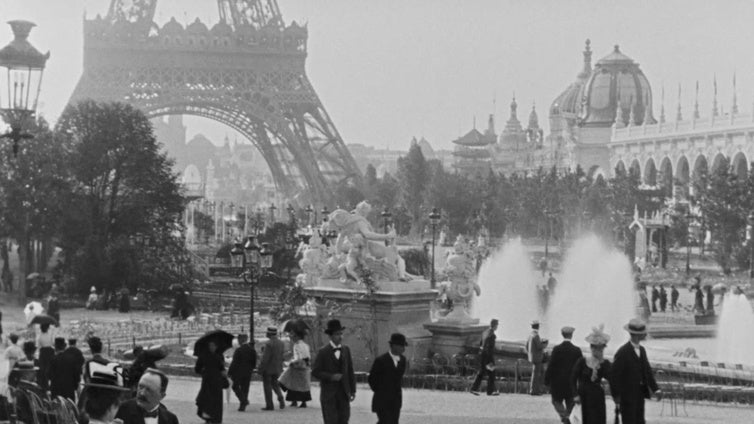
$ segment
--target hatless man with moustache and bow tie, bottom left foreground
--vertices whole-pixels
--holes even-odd
[[[148,368],[139,380],[136,397],[123,402],[115,418],[123,424],[178,424],[178,417],[160,403],[168,389],[168,377]]]

